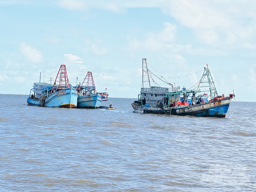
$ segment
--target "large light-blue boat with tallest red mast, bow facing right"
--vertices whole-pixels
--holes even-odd
[[[78,92],[70,85],[66,65],[63,64],[59,67],[54,84],[43,86],[41,90],[40,106],[76,108]]]

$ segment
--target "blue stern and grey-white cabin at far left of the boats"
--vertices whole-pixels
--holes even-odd
[[[50,84],[45,82],[34,82],[33,88],[30,90],[29,97],[27,98],[27,105],[39,105],[39,98],[42,94],[42,88]]]

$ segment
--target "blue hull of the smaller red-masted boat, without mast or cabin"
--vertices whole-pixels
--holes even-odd
[[[100,94],[81,95],[77,98],[77,108],[98,108],[100,105]]]

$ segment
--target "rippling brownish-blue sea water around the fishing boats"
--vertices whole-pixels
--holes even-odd
[[[256,191],[256,102],[226,118],[28,106],[0,95],[0,191]]]

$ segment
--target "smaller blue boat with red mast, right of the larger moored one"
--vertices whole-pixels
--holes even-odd
[[[87,72],[82,85],[76,86],[76,90],[78,91],[77,108],[99,108],[101,94],[96,92],[91,72]]]

